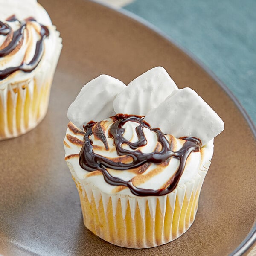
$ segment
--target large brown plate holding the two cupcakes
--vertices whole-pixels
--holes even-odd
[[[0,254],[241,255],[255,239],[255,128],[226,87],[167,38],[123,13],[84,0],[41,0],[63,38],[49,111],[37,128],[0,142]],[[81,87],[105,73],[126,84],[163,66],[192,87],[225,122],[195,223],[179,239],[125,249],[87,230],[64,161],[67,108]]]

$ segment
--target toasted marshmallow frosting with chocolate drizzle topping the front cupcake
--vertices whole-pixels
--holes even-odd
[[[190,151],[183,168],[180,168],[184,160],[180,156],[186,154],[189,139],[178,139],[162,134],[159,129],[151,129],[143,123],[143,117],[140,121],[137,117],[128,118],[122,125],[117,123],[119,119],[114,116],[100,122],[91,122],[86,127],[86,134],[70,122],[64,139],[65,160],[70,163],[76,176],[93,183],[103,192],[162,195],[162,192],[171,192],[176,186],[182,187],[197,177],[198,170],[212,158],[213,139],[204,147],[195,143],[195,150]],[[119,131],[116,137],[121,136],[121,139],[115,139],[114,126]],[[91,132],[88,134],[89,130]],[[122,142],[117,145],[117,141]],[[167,143],[166,148],[164,143]],[[89,148],[84,150],[85,145],[89,145]],[[83,154],[95,165],[89,163],[90,160],[83,165]],[[172,188],[174,180],[177,184]]]

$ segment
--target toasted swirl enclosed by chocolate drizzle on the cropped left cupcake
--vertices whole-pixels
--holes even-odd
[[[18,70],[34,70],[41,61],[43,41],[48,36],[48,28],[33,17],[19,21],[12,15],[6,22],[0,21],[0,80]]]

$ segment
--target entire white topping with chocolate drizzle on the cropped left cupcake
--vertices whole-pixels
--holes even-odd
[[[30,79],[38,67],[51,65],[61,40],[36,0],[0,0],[0,6],[0,89],[4,89],[8,83]]]

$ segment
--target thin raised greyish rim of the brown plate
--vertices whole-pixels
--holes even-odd
[[[108,9],[111,9],[115,12],[118,12],[119,14],[122,14],[140,24],[145,26],[148,29],[151,29],[153,32],[157,33],[160,37],[164,38],[165,40],[169,41],[171,44],[173,44],[175,47],[180,49],[182,52],[184,52],[189,58],[191,58],[193,61],[195,61],[196,64],[198,64],[215,82],[218,84],[219,87],[221,87],[222,90],[227,94],[227,96],[230,97],[230,99],[233,101],[233,103],[236,105],[242,116],[244,117],[245,121],[250,127],[250,130],[253,134],[254,140],[256,141],[256,125],[254,125],[251,117],[248,115],[245,108],[241,105],[239,100],[236,98],[236,96],[232,93],[232,91],[225,85],[221,79],[218,78],[218,76],[210,70],[201,60],[199,60],[192,52],[190,52],[188,49],[180,46],[174,39],[172,39],[169,35],[167,35],[165,32],[163,32],[161,29],[159,29],[154,24],[150,23],[148,20],[145,20],[143,17],[140,17],[133,12],[130,12],[123,7],[116,8],[114,6],[111,6],[107,3],[99,3],[96,0],[84,0],[89,1],[101,6],[105,6]],[[233,250],[232,253],[229,254],[229,256],[241,256],[243,253],[247,252],[249,249],[252,249],[253,244],[256,243],[256,221],[253,224],[253,227],[245,237],[245,239],[239,244],[238,247],[236,247],[235,250]]]

